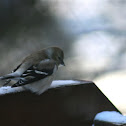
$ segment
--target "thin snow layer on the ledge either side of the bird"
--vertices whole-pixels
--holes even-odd
[[[77,80],[55,80],[52,82],[50,88],[56,88],[61,86],[69,86],[69,85],[78,85],[78,84],[88,84],[90,81],[77,81]],[[22,92],[25,89],[22,87],[15,87],[11,88],[11,86],[1,87],[0,88],[0,95]]]

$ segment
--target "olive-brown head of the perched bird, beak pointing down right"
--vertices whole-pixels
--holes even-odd
[[[57,65],[65,66],[65,63],[63,61],[64,53],[62,49],[60,49],[59,47],[49,47],[47,48],[47,54],[51,59],[56,61]]]

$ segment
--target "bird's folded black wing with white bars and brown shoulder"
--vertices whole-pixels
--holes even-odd
[[[57,68],[55,61],[50,59],[43,60],[39,64],[33,65],[29,69],[27,69],[21,75],[19,81],[12,85],[12,87],[23,86],[38,81],[40,79],[44,79],[52,75],[55,68]]]

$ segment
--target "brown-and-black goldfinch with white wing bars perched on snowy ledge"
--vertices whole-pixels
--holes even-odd
[[[54,74],[60,65],[64,65],[64,53],[58,47],[48,47],[27,56],[12,73],[1,76],[5,85],[22,86],[37,94],[43,93],[51,85]]]

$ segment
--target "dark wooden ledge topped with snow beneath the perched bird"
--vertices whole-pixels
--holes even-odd
[[[92,81],[55,80],[42,95],[0,88],[1,126],[91,126],[101,111],[117,111]]]

